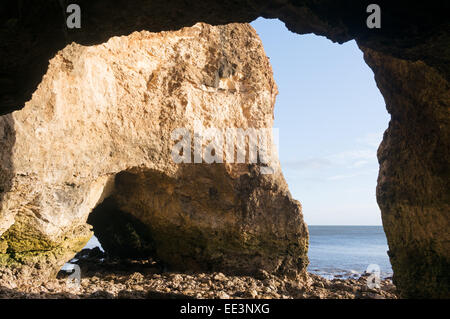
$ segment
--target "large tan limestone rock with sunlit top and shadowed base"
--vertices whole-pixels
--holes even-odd
[[[308,231],[270,134],[273,174],[249,158],[172,156],[177,128],[271,128],[276,94],[247,24],[67,46],[25,107],[0,117],[0,264],[54,272],[92,236],[89,221],[118,256],[302,275]]]

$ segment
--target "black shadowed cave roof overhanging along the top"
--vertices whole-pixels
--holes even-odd
[[[278,18],[299,34],[315,33],[407,60],[422,60],[449,80],[450,42],[445,0],[380,0],[382,27],[368,29],[367,0],[76,0],[81,29],[67,29],[64,0],[6,0],[0,4],[0,114],[23,107],[48,61],[67,44],[93,45],[136,30],[177,30],[196,22],[250,22]]]

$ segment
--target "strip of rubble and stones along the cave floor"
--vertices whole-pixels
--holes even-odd
[[[168,272],[152,260],[104,258],[98,249],[77,255],[80,285],[68,283],[68,272],[42,285],[22,281],[13,274],[0,274],[0,298],[32,299],[396,299],[391,279],[379,289],[369,289],[367,277],[327,280],[309,274],[305,282],[270,275],[231,276],[220,272]]]

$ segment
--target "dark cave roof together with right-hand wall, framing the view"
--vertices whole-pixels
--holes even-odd
[[[377,198],[396,284],[403,296],[448,297],[448,1],[377,1],[382,9],[378,30],[365,25],[372,1],[73,2],[82,8],[80,30],[65,28],[60,1],[0,4],[0,114],[31,99],[48,61],[72,41],[93,45],[136,30],[176,30],[198,21],[250,22],[258,16],[279,18],[299,34],[314,32],[338,42],[356,39],[392,116],[378,154]],[[4,132],[14,130],[14,123],[8,123]],[[3,167],[12,163],[8,143]],[[10,170],[0,174],[1,199],[13,185]]]

